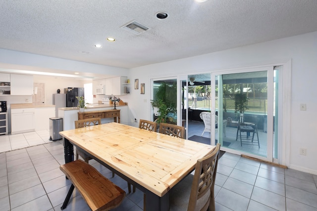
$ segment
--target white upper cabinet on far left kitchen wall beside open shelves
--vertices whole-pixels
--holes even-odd
[[[10,74],[11,95],[33,95],[33,76]]]

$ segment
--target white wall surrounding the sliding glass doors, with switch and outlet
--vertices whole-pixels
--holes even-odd
[[[271,64],[291,59],[291,117],[289,168],[317,174],[317,32],[228,49],[201,56],[134,68],[130,80],[146,83],[145,95],[131,89],[129,107],[138,119],[150,119],[150,78],[212,72],[222,69]],[[146,102],[145,102],[146,101]],[[307,111],[300,111],[300,103]],[[307,156],[299,148],[307,148]]]

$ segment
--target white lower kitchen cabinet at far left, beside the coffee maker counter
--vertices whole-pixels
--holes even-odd
[[[11,109],[11,134],[35,130],[35,108]]]

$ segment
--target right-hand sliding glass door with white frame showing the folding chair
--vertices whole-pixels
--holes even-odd
[[[275,118],[273,67],[212,73],[212,143],[272,161]],[[277,130],[275,130],[277,132]]]

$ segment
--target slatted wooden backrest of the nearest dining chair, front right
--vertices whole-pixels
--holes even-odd
[[[211,154],[197,160],[187,211],[210,211],[214,206],[214,182],[217,173],[220,144]]]

